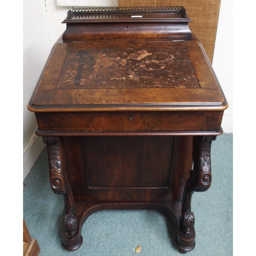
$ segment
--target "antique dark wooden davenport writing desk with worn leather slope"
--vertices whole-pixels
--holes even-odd
[[[74,9],[63,21],[28,108],[64,196],[67,250],[102,209],[160,210],[179,251],[194,248],[191,196],[211,184],[227,102],[189,22],[183,7]]]

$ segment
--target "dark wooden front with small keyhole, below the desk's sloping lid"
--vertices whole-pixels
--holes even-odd
[[[218,131],[223,112],[36,113],[40,131]]]

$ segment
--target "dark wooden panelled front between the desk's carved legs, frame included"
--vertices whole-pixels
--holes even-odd
[[[63,137],[75,202],[182,200],[193,136]]]

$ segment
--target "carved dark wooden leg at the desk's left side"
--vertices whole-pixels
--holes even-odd
[[[51,188],[55,194],[63,195],[65,201],[66,215],[62,231],[63,247],[67,250],[76,250],[82,244],[82,237],[79,232],[79,221],[76,217],[71,187],[66,177],[61,138],[43,137],[43,140],[47,144]]]

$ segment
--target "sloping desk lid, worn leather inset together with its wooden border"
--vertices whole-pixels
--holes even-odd
[[[126,57],[122,56],[125,52]],[[85,53],[87,61],[78,61],[79,56]],[[81,111],[99,108],[104,111],[112,108],[223,110],[226,105],[218,81],[200,45],[194,40],[88,40],[86,43],[57,43],[50,56],[32,99],[32,104],[39,106],[37,109],[40,111],[49,108],[53,111],[53,105],[56,109],[76,108]],[[72,56],[73,65],[77,66],[68,68],[69,64],[65,61],[71,60]],[[104,62],[106,59],[108,61]],[[116,63],[113,61],[115,59]],[[148,61],[150,63],[146,63]],[[129,62],[130,67],[127,65]],[[122,72],[115,73],[116,69]],[[193,77],[194,74],[196,77]],[[139,79],[133,80],[132,76]],[[143,81],[146,81],[147,87],[143,87]]]

